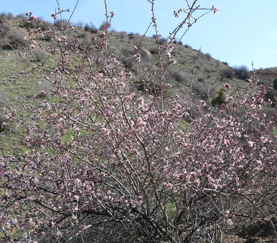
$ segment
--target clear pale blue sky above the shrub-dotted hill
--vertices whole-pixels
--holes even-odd
[[[191,2],[189,0],[189,2]],[[60,6],[71,11],[75,0],[61,0]],[[194,49],[226,61],[230,66],[244,64],[256,69],[277,66],[277,0],[198,0],[202,7],[217,6],[220,11],[204,15],[182,39]],[[108,10],[114,10],[112,27],[117,31],[143,34],[151,21],[151,5],[147,0],[107,0]],[[51,20],[55,0],[0,0],[0,11],[14,15],[33,11],[36,16]],[[156,0],[159,32],[167,36],[182,19],[173,11],[185,7],[184,0]],[[72,21],[93,22],[97,27],[105,19],[104,0],[79,0]],[[68,17],[68,16],[65,16]],[[151,29],[147,36],[152,36]],[[180,36],[179,36],[180,37]]]

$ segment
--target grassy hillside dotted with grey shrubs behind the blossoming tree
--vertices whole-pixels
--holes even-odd
[[[56,27],[59,30],[59,21]],[[18,15],[14,17],[11,14],[0,14],[0,24],[2,26],[2,38],[6,38],[10,43],[16,43],[24,45],[26,42],[23,41],[24,36],[28,36],[27,29],[36,30],[36,22],[32,22],[32,25],[26,21],[24,15]],[[51,26],[53,23],[43,21],[44,25]],[[72,23],[74,24],[74,23]],[[91,32],[96,38],[99,36],[99,29],[95,28],[92,24],[89,26]],[[88,31],[88,26],[84,24],[76,24],[77,34],[79,38],[80,50],[88,50],[91,45],[91,33]],[[3,33],[5,31],[5,34]],[[37,35],[37,41],[45,43],[46,45],[51,44],[50,36]],[[160,37],[159,43],[162,46],[166,46],[168,43],[164,37]],[[194,103],[199,100],[204,100],[207,103],[213,100],[224,88],[224,84],[229,83],[232,87],[239,87],[244,89],[249,86],[247,78],[252,78],[253,74],[244,65],[230,67],[227,62],[221,62],[214,59],[209,53],[202,53],[201,50],[192,49],[191,46],[183,44],[182,41],[175,40],[172,43],[173,51],[171,53],[171,60],[177,61],[178,65],[165,65],[168,68],[165,74],[166,82],[171,84],[169,90],[169,96],[178,95],[179,99],[192,99]],[[108,35],[108,50],[113,53],[119,63],[123,63],[126,68],[131,70],[132,67],[128,66],[133,56],[133,46],[138,46],[138,52],[141,55],[141,61],[139,66],[141,69],[149,67],[154,62],[157,51],[157,39],[155,36],[147,37],[141,36],[138,33],[126,33],[116,32],[114,30],[109,31]],[[43,53],[33,50],[33,55],[38,61],[44,60],[45,56]],[[28,68],[22,62],[19,55],[13,51],[9,46],[3,44],[0,47],[0,58],[1,69],[0,69],[0,100],[10,102],[12,106],[24,104],[26,102],[34,102],[31,99],[33,96],[39,96],[41,90],[50,91],[52,85],[47,83],[45,80],[39,80],[35,74],[29,74]],[[71,68],[78,64],[78,58],[74,59],[71,56]],[[168,56],[163,56],[164,63],[168,62]],[[30,56],[30,61],[33,57]],[[239,63],[239,60],[238,60]],[[56,65],[53,63],[53,66]],[[52,66],[52,63],[50,63]],[[171,66],[171,67],[170,67]],[[150,71],[155,70],[159,67],[158,61],[154,63]],[[27,71],[27,74],[26,74]],[[21,74],[25,72],[25,74]],[[256,70],[258,75],[259,83],[264,82],[272,87],[272,82],[275,80],[277,75],[277,68],[266,68]],[[40,84],[38,85],[37,82]],[[140,85],[143,90],[143,85]],[[252,86],[250,86],[250,92],[254,92]],[[274,93],[274,94],[273,94]],[[268,97],[271,100],[274,99],[274,95],[277,92],[269,92]],[[48,99],[53,99],[48,97]],[[265,113],[268,115],[273,114],[274,109],[269,104],[264,105]]]

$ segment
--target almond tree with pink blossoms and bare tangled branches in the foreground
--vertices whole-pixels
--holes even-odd
[[[216,109],[168,97],[176,34],[191,28],[199,10],[217,8],[187,1],[174,12],[184,20],[162,45],[148,2],[158,54],[146,68],[140,43],[128,65],[107,49],[108,10],[88,50],[69,21],[57,29],[60,8],[53,26],[28,29],[26,46],[12,46],[27,65],[23,73],[52,87],[32,104],[6,104],[4,125],[24,145],[15,155],[2,148],[3,242],[222,242],[249,219],[274,229],[277,120],[262,109],[271,102],[267,85],[249,94],[226,84]]]

